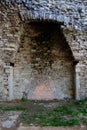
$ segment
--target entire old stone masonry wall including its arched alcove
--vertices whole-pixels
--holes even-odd
[[[0,1],[0,100],[21,98],[87,98],[86,0]]]

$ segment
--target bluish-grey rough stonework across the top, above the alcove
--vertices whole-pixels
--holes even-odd
[[[15,3],[15,0],[6,1]],[[23,20],[52,20],[64,23],[67,28],[87,29],[86,0],[16,0],[16,3]]]

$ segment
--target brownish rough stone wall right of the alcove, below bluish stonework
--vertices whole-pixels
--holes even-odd
[[[80,97],[86,97],[87,93],[87,31],[66,33],[68,43],[71,45],[72,52],[76,58],[80,76]],[[73,38],[74,36],[74,38]],[[72,41],[72,42],[71,42]],[[72,43],[72,44],[71,44]]]

